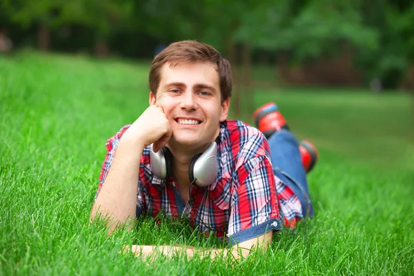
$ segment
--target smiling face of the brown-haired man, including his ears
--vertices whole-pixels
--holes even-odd
[[[150,104],[164,109],[172,127],[169,144],[203,147],[219,134],[227,118],[229,99],[221,103],[219,75],[212,63],[165,64],[157,97]]]

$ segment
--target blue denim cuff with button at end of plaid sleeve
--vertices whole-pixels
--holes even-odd
[[[282,230],[282,224],[279,219],[269,219],[268,221],[258,224],[242,231],[235,233],[234,235],[228,236],[228,245],[234,246],[241,242],[253,239],[268,233],[270,230]]]

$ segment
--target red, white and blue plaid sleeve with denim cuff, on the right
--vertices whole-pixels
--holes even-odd
[[[255,139],[249,148],[256,154],[239,162],[233,174],[228,225],[230,245],[282,229],[267,141]]]

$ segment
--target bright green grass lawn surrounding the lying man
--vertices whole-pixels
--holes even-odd
[[[88,224],[105,143],[148,106],[148,64],[21,52],[0,57],[0,275],[413,275],[411,99],[365,90],[258,90],[315,142],[315,218],[264,255],[230,260],[119,253],[124,244],[223,246],[178,223],[107,237]],[[241,119],[250,121],[250,113]]]

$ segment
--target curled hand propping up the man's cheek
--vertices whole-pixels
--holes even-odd
[[[149,106],[139,118],[126,130],[124,136],[139,137],[144,142],[144,147],[152,145],[152,150],[157,152],[165,146],[172,136],[172,128],[164,110],[158,106]]]

